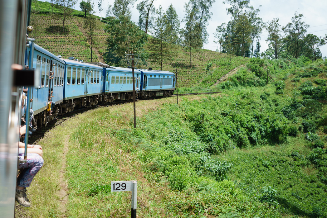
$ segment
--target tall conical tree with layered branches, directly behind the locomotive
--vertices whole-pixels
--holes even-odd
[[[166,26],[166,15],[160,6],[156,10],[157,18],[154,25],[154,37],[149,40],[150,58],[152,62],[160,62],[161,70],[163,70],[163,61],[171,60],[173,47],[168,43],[170,31]]]

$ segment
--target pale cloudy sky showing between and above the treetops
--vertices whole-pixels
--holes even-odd
[[[132,8],[132,20],[135,23],[138,23],[139,18],[136,5],[140,1],[141,0],[137,0],[134,7]],[[80,2],[81,0],[77,0],[75,9],[80,10]],[[99,0],[94,0],[95,15],[100,16],[100,12],[97,8],[97,2],[99,2]],[[113,2],[114,0],[102,0],[102,17],[105,17],[108,5],[113,5]],[[155,8],[159,8],[159,6],[161,5],[163,10],[166,11],[169,5],[172,4],[173,7],[176,9],[180,20],[182,20],[184,17],[183,6],[186,2],[188,2],[188,0],[155,0],[154,6]],[[291,22],[291,19],[294,16],[294,12],[297,11],[298,13],[304,15],[303,21],[306,24],[310,25],[310,27],[307,29],[307,33],[312,33],[318,37],[323,37],[327,34],[326,0],[250,0],[250,5],[252,5],[254,8],[259,8],[259,6],[262,5],[260,7],[260,12],[258,13],[258,16],[262,18],[264,22],[271,21],[274,18],[279,18],[279,24],[281,26],[285,26],[287,23]],[[210,10],[212,12],[212,16],[207,26],[207,31],[209,33],[208,43],[204,44],[202,48],[213,51],[217,49],[218,44],[214,42],[214,40],[216,40],[214,35],[218,25],[221,25],[222,23],[228,23],[228,21],[231,19],[230,15],[227,15],[226,12],[226,8],[228,7],[229,5],[223,4],[222,0],[216,0],[213,4]],[[181,28],[183,27],[184,23],[181,23]],[[261,34],[261,38],[259,39],[259,42],[261,44],[261,52],[265,51],[268,48],[266,40],[267,32],[263,31]],[[322,53],[322,57],[327,56],[327,45],[320,47],[320,51]]]

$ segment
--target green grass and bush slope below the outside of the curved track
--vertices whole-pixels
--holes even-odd
[[[137,179],[142,217],[326,217],[327,69],[292,61],[252,59],[221,95],[138,102],[136,130],[131,104],[65,123],[65,214],[129,216],[130,194],[111,193],[110,181]],[[266,85],[265,68],[283,80]],[[58,160],[46,153],[56,143],[41,143]],[[39,203],[43,186],[58,189],[53,172],[45,164],[36,177],[31,214],[62,214],[56,195]]]

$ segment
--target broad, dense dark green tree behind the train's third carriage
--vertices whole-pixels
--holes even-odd
[[[140,30],[127,16],[110,19],[104,31],[109,34],[106,40],[108,48],[104,58],[112,66],[125,63],[123,62],[125,52],[131,53],[144,50],[147,34]]]

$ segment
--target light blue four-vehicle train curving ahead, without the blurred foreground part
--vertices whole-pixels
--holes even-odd
[[[132,99],[131,68],[103,67],[102,63],[85,63],[75,57],[64,59],[37,44],[29,44],[25,63],[27,65],[29,58],[33,59],[29,69],[36,70],[39,78],[39,84],[31,92],[34,129],[75,108]],[[31,53],[33,57],[30,57]],[[136,98],[168,97],[175,90],[176,78],[172,72],[135,69],[134,74]],[[47,110],[50,90],[54,96],[51,101],[55,102],[52,113]]]

